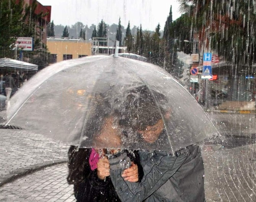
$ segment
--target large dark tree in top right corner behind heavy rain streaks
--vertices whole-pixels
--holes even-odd
[[[254,64],[256,58],[255,1],[178,0],[193,19],[193,30],[206,41],[204,50],[217,53],[233,64]]]

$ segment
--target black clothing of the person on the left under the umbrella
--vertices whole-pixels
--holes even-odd
[[[69,156],[68,183],[74,185],[74,193],[79,202],[120,202],[110,177],[105,181],[97,176],[97,169],[91,170],[89,157],[91,149],[80,148],[76,151],[75,146],[71,146]],[[136,151],[131,154],[127,151],[132,161],[138,165],[139,178],[143,177],[143,170],[139,164],[139,155]]]

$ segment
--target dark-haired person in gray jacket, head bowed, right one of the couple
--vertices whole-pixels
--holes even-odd
[[[165,102],[164,95],[149,91],[146,86],[132,89],[124,107],[129,112],[120,121],[123,127],[131,128],[133,135],[139,135],[141,142],[149,145],[166,138],[164,119],[172,118],[169,110],[157,105],[153,96]],[[139,183],[123,180],[126,171],[117,162],[129,161],[129,157],[123,151],[114,152],[109,160],[110,177],[122,201],[204,201],[204,165],[198,145],[190,145],[174,154],[139,151],[144,172]]]

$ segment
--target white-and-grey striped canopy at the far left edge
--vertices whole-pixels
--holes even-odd
[[[38,65],[34,65],[34,64],[31,64],[28,62],[14,60],[14,59],[10,59],[10,58],[1,58],[0,59],[0,68],[9,69],[9,70],[37,71]]]

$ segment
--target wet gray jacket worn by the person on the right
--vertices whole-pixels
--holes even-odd
[[[119,159],[122,156],[122,159]],[[139,151],[144,177],[140,183],[130,183],[121,177],[122,164],[128,157],[110,159],[110,177],[124,202],[203,202],[204,165],[201,150],[191,145],[173,156],[166,151]]]

